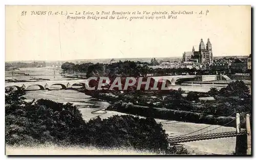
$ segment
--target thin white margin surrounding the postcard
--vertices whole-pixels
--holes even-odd
[[[1,74],[1,81],[3,84],[3,86],[1,85],[1,88],[0,90],[2,91],[2,93],[4,93],[4,79],[5,79],[5,5],[251,5],[251,6],[256,6],[255,5],[255,0],[243,0],[243,1],[223,1],[223,0],[215,0],[215,1],[207,1],[207,0],[198,0],[198,1],[191,1],[191,0],[173,0],[173,1],[163,1],[163,0],[155,0],[155,1],[152,1],[152,0],[148,0],[148,1],[140,1],[140,0],[130,0],[130,1],[113,1],[113,0],[109,0],[109,1],[104,1],[104,0],[90,0],[90,1],[82,1],[82,0],[72,0],[72,1],[67,1],[67,0],[61,0],[61,1],[52,1],[52,0],[44,0],[44,1],[32,1],[32,0],[23,0],[23,1],[19,1],[19,0],[15,0],[15,1],[8,1],[8,2],[4,2],[4,1],[1,1],[1,36],[2,36],[2,41],[1,41],[1,50],[2,50],[2,54],[0,59],[1,59],[1,66],[0,66],[0,69],[2,71],[2,74]],[[255,12],[255,11],[254,11]],[[253,17],[253,21],[255,21],[255,17]],[[252,35],[254,36],[254,34]],[[255,46],[255,41],[253,42],[252,44],[253,46]],[[251,53],[254,55],[254,53]],[[253,62],[255,62],[255,56],[253,56]],[[254,69],[255,71],[255,69]],[[253,75],[254,74],[254,71],[253,71]],[[255,77],[253,76],[253,79],[255,79]],[[254,85],[253,85],[254,86]],[[255,93],[254,93],[255,95]],[[255,99],[255,97],[253,96],[253,99]],[[2,102],[2,106],[1,106],[1,155],[2,157],[7,157],[5,156],[5,124],[4,124],[4,121],[5,121],[5,116],[4,116],[4,113],[5,113],[5,108],[4,108],[4,95],[1,96],[1,102]],[[252,108],[254,108],[252,106]],[[255,113],[255,110],[256,108],[253,109],[253,115]],[[254,122],[254,121],[253,121]],[[254,125],[253,125],[253,129],[254,129]],[[255,146],[253,145],[253,153],[255,154]],[[2,159],[1,157],[1,159]],[[27,158],[27,157],[23,157],[23,158]],[[30,159],[36,159],[38,157],[30,157]],[[54,159],[54,157],[48,157],[49,159]],[[61,157],[61,158],[64,158],[64,157]],[[67,158],[70,158],[72,159],[73,157],[67,157]],[[90,158],[90,157],[80,157],[80,158]],[[103,157],[97,157],[97,158],[103,158]],[[104,157],[104,158],[113,158],[113,157]],[[124,157],[116,157],[116,158],[124,158]],[[128,158],[160,158],[160,157],[143,157],[143,156],[140,156],[140,157],[128,157]],[[161,157],[162,158],[162,157]],[[191,157],[169,157],[169,158],[177,158],[177,159],[180,159],[180,158],[191,158]],[[207,157],[194,157],[194,158],[207,158]],[[208,158],[217,158],[217,157],[208,157]],[[224,158],[227,158],[227,157],[218,157],[218,159],[224,159]],[[233,158],[233,156],[231,157]],[[245,158],[245,157],[242,157],[242,158]]]

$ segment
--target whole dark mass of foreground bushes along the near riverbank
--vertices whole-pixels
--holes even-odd
[[[162,125],[152,118],[99,117],[88,122],[71,103],[39,99],[25,102],[23,91],[6,92],[6,144],[133,148],[165,154],[187,154],[170,149]]]

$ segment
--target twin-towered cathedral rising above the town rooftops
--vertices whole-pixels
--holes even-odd
[[[206,45],[201,39],[199,43],[199,51],[195,51],[193,46],[192,51],[185,51],[182,56],[183,62],[197,62],[205,65],[212,64],[212,47],[208,38]]]

